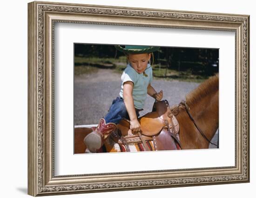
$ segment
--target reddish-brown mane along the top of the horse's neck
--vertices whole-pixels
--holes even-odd
[[[192,107],[196,102],[200,101],[203,97],[215,93],[219,89],[219,75],[210,77],[201,83],[196,89],[192,90],[186,95],[186,102],[189,107]]]

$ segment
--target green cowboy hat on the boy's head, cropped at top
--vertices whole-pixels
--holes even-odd
[[[115,48],[119,51],[129,54],[143,54],[143,53],[151,53],[153,51],[157,51],[160,47],[154,46],[143,46],[143,45],[125,45],[125,47],[121,47],[120,45],[115,45]]]

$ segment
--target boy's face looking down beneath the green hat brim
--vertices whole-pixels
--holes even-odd
[[[128,54],[128,60],[135,71],[139,74],[143,73],[148,65],[151,53],[144,54]]]

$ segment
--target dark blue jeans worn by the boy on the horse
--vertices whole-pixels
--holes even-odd
[[[137,117],[139,117],[139,112],[137,110],[136,115]],[[106,123],[113,122],[115,124],[118,124],[122,118],[130,120],[123,99],[117,97],[115,100],[113,100],[112,105],[109,108],[108,114],[104,117],[104,119]]]

